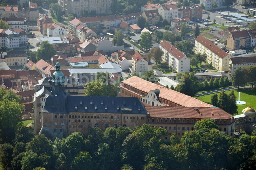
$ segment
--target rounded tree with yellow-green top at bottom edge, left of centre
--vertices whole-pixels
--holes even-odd
[[[91,170],[95,168],[95,162],[92,159],[89,152],[80,152],[78,156],[75,157],[72,164],[72,169],[85,169]]]

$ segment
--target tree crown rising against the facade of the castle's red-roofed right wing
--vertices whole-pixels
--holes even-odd
[[[207,118],[197,121],[195,123],[194,129],[198,131],[209,132],[211,129],[219,129],[219,126],[214,119]]]

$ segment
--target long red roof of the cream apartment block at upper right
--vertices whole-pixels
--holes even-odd
[[[226,53],[223,50],[220,50],[220,48],[218,46],[216,46],[214,43],[212,43],[211,41],[209,41],[208,39],[204,38],[203,36],[199,35],[196,38],[196,41],[200,42],[201,44],[203,44],[206,48],[208,48],[209,50],[211,50],[213,53],[215,53],[216,55],[218,55],[220,58],[225,58],[227,55],[229,55],[228,53]]]

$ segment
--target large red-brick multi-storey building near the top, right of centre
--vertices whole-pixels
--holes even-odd
[[[183,6],[178,9],[179,18],[189,18],[190,20],[196,21],[202,19],[203,9],[198,5]]]

